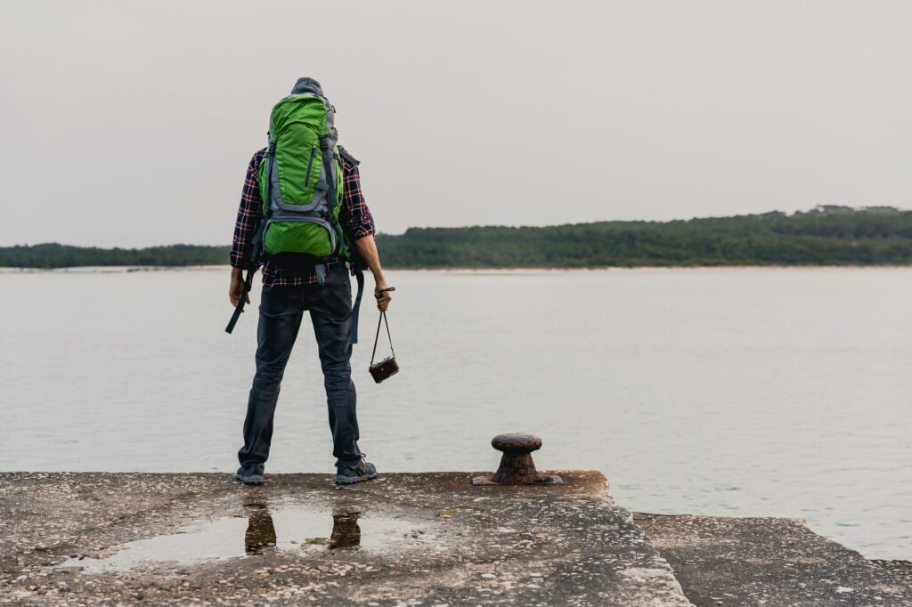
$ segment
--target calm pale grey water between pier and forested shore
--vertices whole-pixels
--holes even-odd
[[[353,364],[381,471],[597,468],[629,509],[799,517],[912,559],[912,270],[393,272],[402,372]],[[0,469],[233,471],[255,310],[226,269],[0,274]],[[330,472],[303,331],[267,471]]]

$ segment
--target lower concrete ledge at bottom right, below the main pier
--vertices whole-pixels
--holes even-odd
[[[635,514],[695,605],[912,605],[907,561],[867,561],[802,520]]]

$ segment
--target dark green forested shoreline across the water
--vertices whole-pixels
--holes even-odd
[[[688,221],[551,227],[411,228],[379,234],[389,268],[591,268],[912,263],[912,211],[818,208]],[[185,266],[228,262],[228,246],[0,247],[0,266]]]

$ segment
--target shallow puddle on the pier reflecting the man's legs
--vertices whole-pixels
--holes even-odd
[[[132,571],[165,563],[192,565],[255,557],[268,552],[301,557],[326,550],[389,552],[425,548],[437,550],[428,530],[432,523],[306,508],[244,507],[244,516],[201,520],[184,530],[124,544],[104,559],[68,559],[57,568],[85,573]]]

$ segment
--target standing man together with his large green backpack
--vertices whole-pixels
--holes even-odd
[[[319,83],[300,78],[273,108],[269,145],[254,154],[234,227],[231,252],[233,329],[250,302],[251,278],[263,258],[256,375],[244,420],[235,478],[263,483],[275,403],[304,312],[310,313],[326,387],[336,483],[377,477],[358,448],[352,344],[358,340],[362,260],[374,275],[377,307],[389,291],[374,242],[374,221],[361,193],[358,160],[337,146],[335,108]],[[358,276],[354,308],[348,270]],[[242,273],[248,271],[244,280]]]

